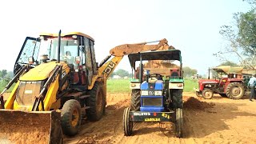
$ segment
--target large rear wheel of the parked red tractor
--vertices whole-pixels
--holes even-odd
[[[231,82],[226,86],[226,96],[231,99],[240,99],[245,94],[244,86],[239,82]]]

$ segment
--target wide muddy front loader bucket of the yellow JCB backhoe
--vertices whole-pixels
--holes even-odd
[[[62,143],[61,114],[0,110],[0,143]]]

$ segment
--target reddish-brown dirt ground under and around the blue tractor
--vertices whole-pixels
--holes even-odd
[[[82,122],[80,133],[65,143],[256,143],[256,101],[221,98],[204,100],[184,93],[185,138],[175,138],[170,123],[136,123],[134,134],[123,134],[122,112],[130,94],[108,94],[106,115]]]

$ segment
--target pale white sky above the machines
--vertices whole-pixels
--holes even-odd
[[[27,36],[62,30],[94,38],[97,62],[114,46],[166,38],[182,51],[183,66],[206,74],[221,63],[213,55],[226,43],[220,27],[231,25],[234,13],[248,10],[242,0],[2,1],[0,70],[13,70]],[[127,56],[117,69],[131,72]]]

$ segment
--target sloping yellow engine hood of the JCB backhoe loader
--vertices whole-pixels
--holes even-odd
[[[50,77],[50,73],[54,67],[58,65],[57,62],[42,63],[30,69],[26,74],[19,78],[20,81],[42,81]]]

